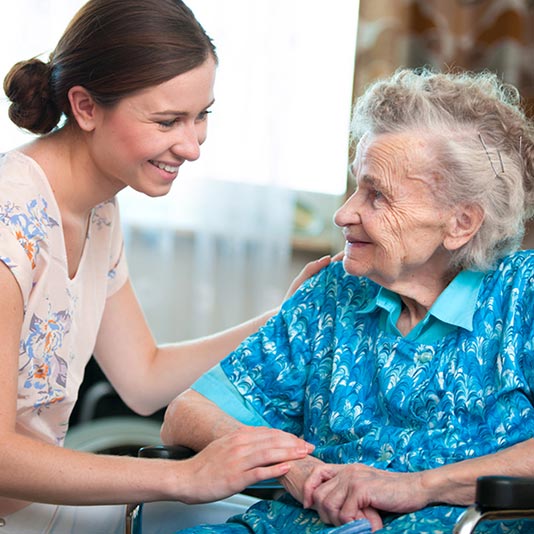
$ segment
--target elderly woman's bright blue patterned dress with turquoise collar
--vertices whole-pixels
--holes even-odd
[[[515,253],[481,276],[472,327],[464,321],[403,337],[384,328],[379,286],[334,263],[221,363],[235,388],[229,405],[237,392],[252,418],[303,436],[329,463],[419,471],[510,447],[534,435],[533,282],[534,253]],[[194,389],[221,400],[209,375]],[[386,514],[383,531],[450,532],[461,511]],[[253,532],[337,530],[286,495],[205,531],[247,532],[239,525]],[[504,531],[534,529],[523,523]]]

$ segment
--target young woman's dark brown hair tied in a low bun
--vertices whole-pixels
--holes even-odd
[[[70,116],[68,91],[112,106],[126,95],[200,66],[215,46],[181,0],[92,0],[73,18],[48,63],[33,58],[4,80],[10,119],[43,134]]]

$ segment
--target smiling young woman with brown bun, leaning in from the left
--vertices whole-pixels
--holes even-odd
[[[61,448],[91,354],[149,414],[274,313],[160,347],[128,280],[115,195],[164,195],[199,157],[216,64],[181,1],[91,0],[48,63],[17,63],[5,78],[11,119],[41,135],[0,158],[0,532],[120,531],[122,506],[56,505],[215,500],[311,450],[268,429],[178,463]]]

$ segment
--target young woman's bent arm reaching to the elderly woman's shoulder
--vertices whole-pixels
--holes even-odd
[[[326,256],[307,264],[292,282],[286,298],[330,261]],[[95,357],[121,398],[136,412],[148,415],[186,390],[276,311],[271,310],[218,334],[157,346],[132,286],[127,282],[108,299]]]

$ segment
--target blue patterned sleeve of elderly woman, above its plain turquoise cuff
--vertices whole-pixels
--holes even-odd
[[[280,313],[221,362],[221,369],[246,403],[269,425],[303,433],[310,362],[329,345],[321,330],[326,276],[320,273],[289,299]]]

